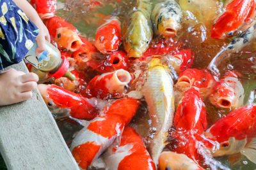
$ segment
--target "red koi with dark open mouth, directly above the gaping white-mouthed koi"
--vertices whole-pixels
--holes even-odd
[[[106,55],[106,58],[101,62],[89,61],[87,65],[102,73],[115,71],[117,69],[127,70],[128,57],[124,51],[118,50]]]

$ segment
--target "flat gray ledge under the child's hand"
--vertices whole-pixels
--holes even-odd
[[[28,73],[24,62],[12,67]],[[0,151],[8,169],[79,169],[37,89],[0,107]]]

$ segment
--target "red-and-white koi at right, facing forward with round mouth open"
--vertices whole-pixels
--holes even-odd
[[[244,89],[234,71],[227,72],[212,89],[209,99],[212,104],[220,108],[239,108],[243,104]]]

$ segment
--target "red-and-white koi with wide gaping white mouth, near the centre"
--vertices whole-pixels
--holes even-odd
[[[86,92],[92,97],[103,99],[111,96],[118,96],[124,92],[125,86],[132,80],[131,74],[124,69],[118,69],[111,73],[104,73],[95,76],[86,87]]]

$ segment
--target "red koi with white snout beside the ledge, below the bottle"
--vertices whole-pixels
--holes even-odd
[[[71,117],[86,120],[91,120],[98,115],[97,108],[93,107],[90,100],[81,94],[70,92],[57,85],[40,84],[38,89],[52,112],[68,110]]]

